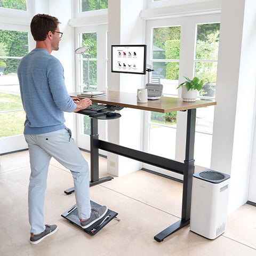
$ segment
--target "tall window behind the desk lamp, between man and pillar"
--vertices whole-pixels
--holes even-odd
[[[107,25],[77,27],[75,34],[76,48],[87,47],[83,55],[75,54],[76,91],[107,90]],[[88,84],[89,86],[87,86]],[[76,116],[78,146],[90,150],[90,137],[88,135],[91,133],[91,118],[85,115]],[[106,139],[106,127],[106,122],[99,125],[99,135],[102,139]]]

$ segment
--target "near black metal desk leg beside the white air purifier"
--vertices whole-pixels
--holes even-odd
[[[195,146],[195,130],[196,130],[196,109],[189,109],[187,115],[187,137],[186,137],[186,155],[184,161],[183,173],[183,195],[182,195],[182,210],[181,220],[175,222],[170,227],[157,234],[154,239],[157,242],[162,242],[165,237],[173,234],[179,229],[187,226],[190,222],[191,209],[191,191],[192,180],[195,170],[194,166],[194,146]]]

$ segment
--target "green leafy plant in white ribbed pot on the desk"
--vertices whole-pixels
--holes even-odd
[[[204,79],[200,81],[197,77],[194,77],[192,80],[186,76],[183,77],[186,81],[181,83],[177,89],[182,87],[181,98],[183,101],[194,102],[197,98],[197,91],[199,92],[204,85]]]

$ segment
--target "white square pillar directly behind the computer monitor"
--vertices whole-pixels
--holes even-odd
[[[109,0],[108,1],[108,89],[110,91],[137,93],[137,89],[145,86],[143,75],[111,73],[111,45],[142,44],[144,42],[143,26],[140,11],[143,0]],[[108,124],[110,142],[141,149],[141,114],[142,111],[123,109],[122,118]],[[108,172],[117,176],[140,169],[138,162],[131,159],[108,154]]]

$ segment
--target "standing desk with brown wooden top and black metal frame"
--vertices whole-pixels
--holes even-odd
[[[77,94],[78,93],[72,93],[71,96],[77,97]],[[186,153],[184,163],[99,140],[98,120],[97,118],[91,118],[91,186],[112,179],[111,177],[99,179],[99,149],[183,175],[181,220],[173,223],[170,227],[167,227],[154,237],[157,242],[162,242],[165,237],[188,225],[190,222],[192,178],[195,169],[194,145],[196,109],[216,105],[217,103],[202,100],[183,102],[180,98],[171,97],[161,97],[158,100],[149,100],[147,103],[137,103],[137,94],[117,91],[108,91],[106,92],[106,95],[91,98],[91,100],[94,103],[103,103],[110,106],[134,108],[159,113],[187,111]]]

